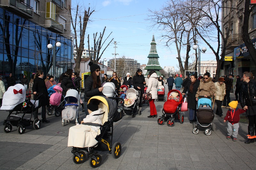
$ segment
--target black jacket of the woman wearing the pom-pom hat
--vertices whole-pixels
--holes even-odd
[[[95,89],[93,88],[92,75],[86,78],[84,81],[84,102],[88,102],[92,96],[105,96],[99,91],[100,87],[97,85]]]

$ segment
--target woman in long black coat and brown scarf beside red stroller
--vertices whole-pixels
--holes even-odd
[[[199,84],[200,80],[197,80],[197,75],[193,74],[182,92],[182,95],[185,95],[188,91],[187,101],[189,108],[189,123],[196,121],[196,92]]]

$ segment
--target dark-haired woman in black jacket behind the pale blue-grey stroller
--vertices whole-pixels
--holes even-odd
[[[62,95],[64,96],[64,98],[65,98],[65,96],[66,96],[66,94],[67,94],[67,91],[68,91],[69,89],[75,89],[75,85],[74,85],[74,83],[73,83],[73,81],[72,81],[72,78],[71,78],[72,74],[73,74],[73,70],[72,70],[72,69],[68,69],[68,70],[65,72],[64,77],[62,78],[60,87],[61,87],[62,90],[63,90],[63,91],[62,91]]]

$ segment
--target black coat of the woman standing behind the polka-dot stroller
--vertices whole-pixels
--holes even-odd
[[[49,105],[48,92],[47,92],[46,85],[44,83],[43,78],[36,77],[34,79],[32,91],[37,92],[37,93],[43,93],[43,95],[39,99],[39,102],[42,104],[42,106],[48,106]],[[34,100],[36,100],[37,97],[38,97],[38,95],[34,95]]]

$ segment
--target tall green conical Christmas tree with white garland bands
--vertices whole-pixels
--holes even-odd
[[[150,48],[150,52],[148,54],[148,58],[149,58],[148,64],[145,67],[145,70],[148,70],[148,71],[145,76],[147,76],[151,70],[155,70],[157,76],[161,76],[161,73],[159,70],[163,70],[163,69],[160,66],[159,61],[158,61],[159,56],[156,51],[156,41],[155,41],[154,35],[153,35],[153,38],[152,38],[152,41],[150,44],[151,44],[151,48]]]

